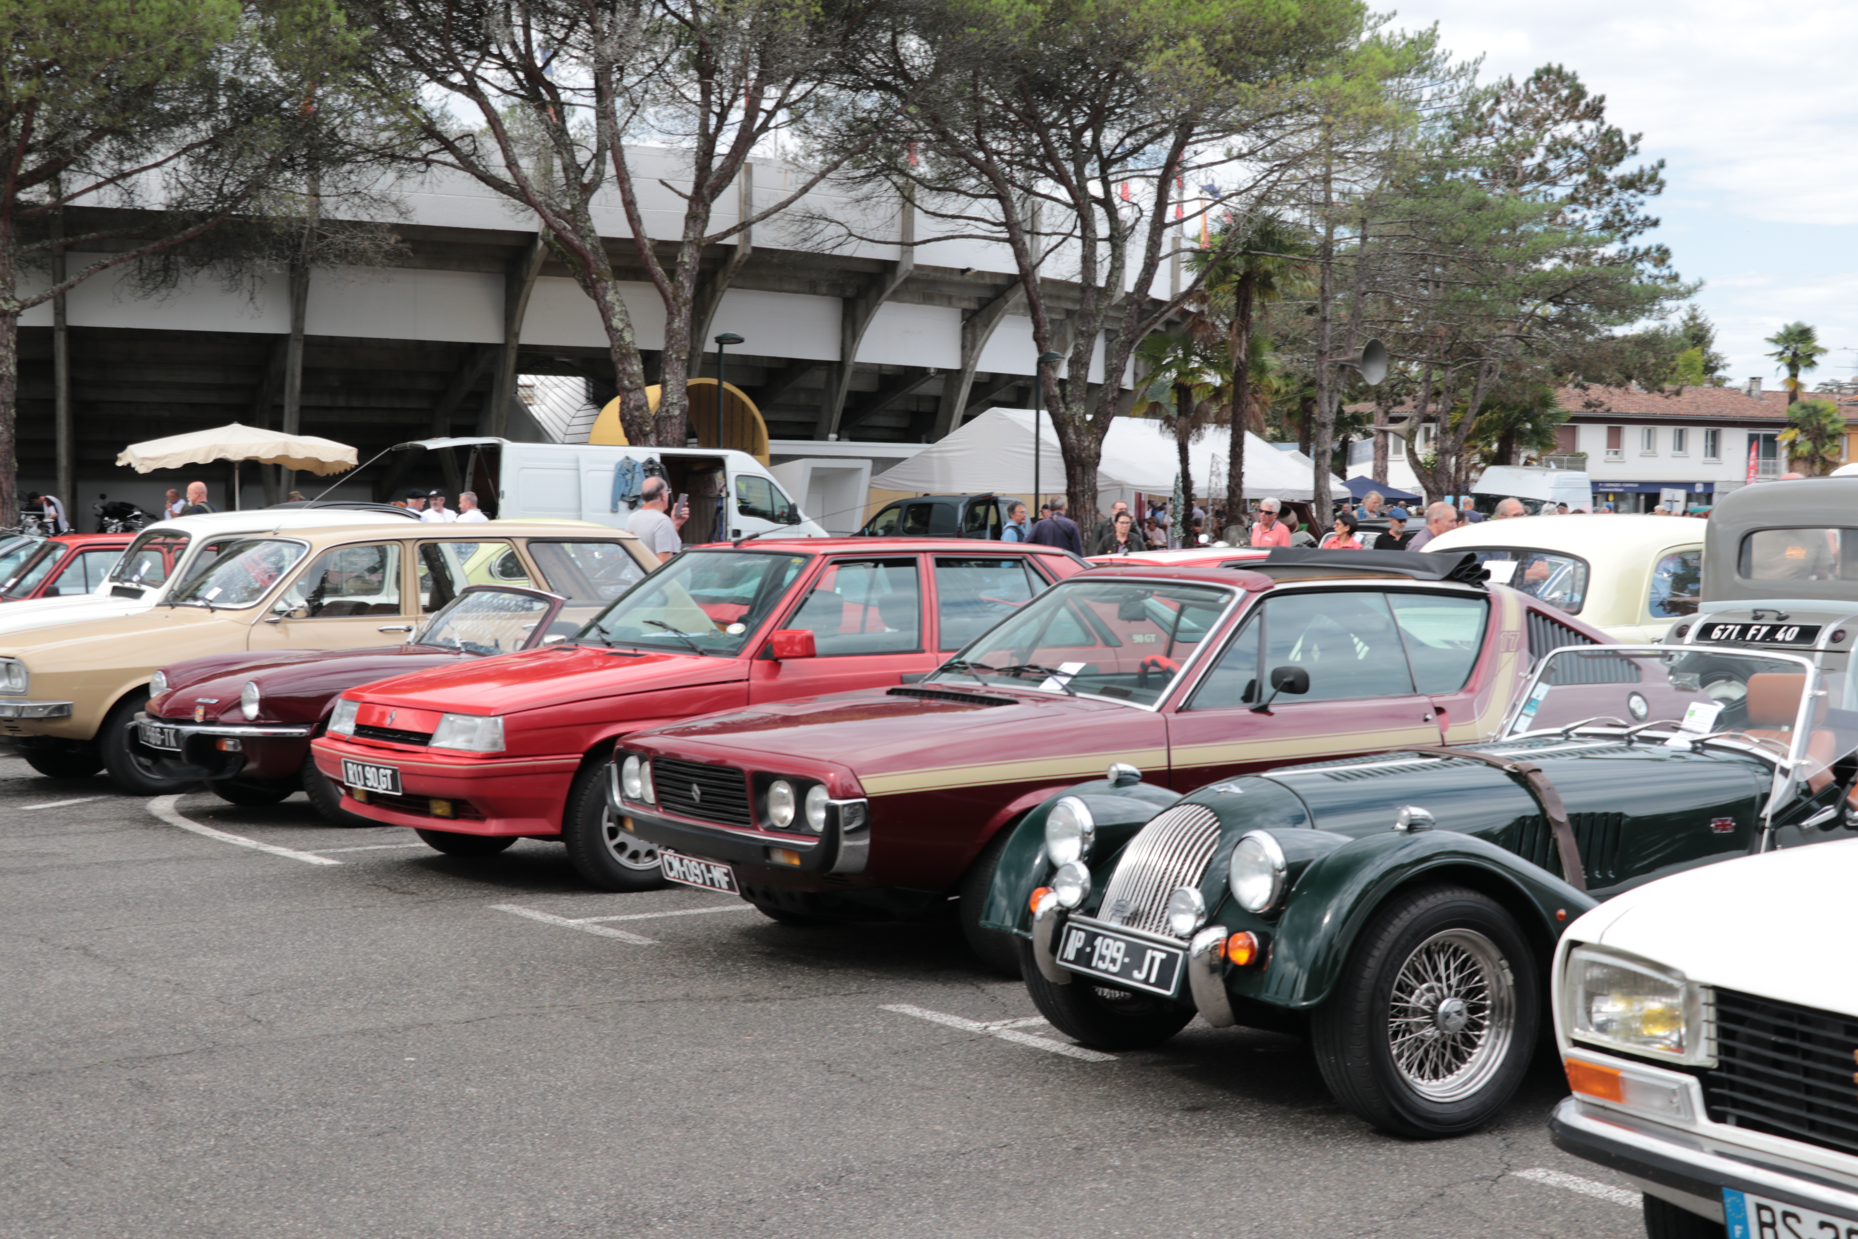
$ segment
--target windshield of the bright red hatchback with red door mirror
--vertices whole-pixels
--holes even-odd
[[[812,555],[693,550],[634,585],[580,632],[596,645],[732,656]]]

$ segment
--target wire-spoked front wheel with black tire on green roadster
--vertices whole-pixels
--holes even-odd
[[[1451,983],[1427,979],[1440,966],[1455,972]],[[1382,1131],[1473,1131],[1529,1070],[1537,985],[1535,953],[1494,899],[1462,886],[1399,893],[1362,929],[1310,1022],[1323,1081]],[[1395,1003],[1414,1014],[1395,1018]],[[1395,1025],[1405,1025],[1399,1048]]]

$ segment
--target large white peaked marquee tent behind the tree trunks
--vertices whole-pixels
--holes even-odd
[[[1050,414],[1039,414],[1044,444],[1039,487],[1044,494],[1065,490],[1065,459]],[[1224,494],[1230,433],[1215,427],[1189,444],[1195,496]],[[1104,457],[1096,470],[1096,502],[1107,511],[1117,500],[1139,494],[1171,494],[1180,453],[1169,425],[1150,418],[1115,418],[1104,437]],[[1315,494],[1308,459],[1276,451],[1258,435],[1245,435],[1245,498],[1308,500]],[[1033,492],[1033,411],[988,409],[948,438],[931,444],[901,464],[894,464],[871,487],[914,494],[1020,494]],[[1340,477],[1330,490],[1345,494]]]

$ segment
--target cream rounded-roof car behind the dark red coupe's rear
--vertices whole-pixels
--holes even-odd
[[[1696,613],[1704,528],[1689,516],[1514,516],[1442,533],[1425,552],[1477,552],[1492,580],[1618,641],[1655,643]]]

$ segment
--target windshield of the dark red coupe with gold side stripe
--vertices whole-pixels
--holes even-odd
[[[1059,581],[931,676],[938,684],[1016,684],[1135,706],[1161,700],[1174,672],[1237,591],[1156,581]]]

